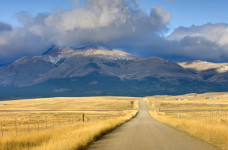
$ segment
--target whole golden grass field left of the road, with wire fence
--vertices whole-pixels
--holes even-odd
[[[137,110],[134,97],[1,101],[0,149],[78,149],[131,119]]]

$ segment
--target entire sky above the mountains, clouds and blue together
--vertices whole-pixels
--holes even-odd
[[[73,1],[0,0],[0,64],[53,44],[228,62],[228,0],[87,0],[78,7]]]

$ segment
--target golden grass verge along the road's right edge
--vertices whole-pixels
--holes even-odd
[[[224,120],[194,120],[175,118],[158,111],[150,111],[152,118],[175,129],[201,139],[218,150],[228,150],[228,126]]]

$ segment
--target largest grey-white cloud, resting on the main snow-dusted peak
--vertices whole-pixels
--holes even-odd
[[[74,9],[30,16],[19,13],[22,27],[0,35],[0,59],[35,55],[49,45],[104,45],[128,48],[166,30],[170,14],[152,8],[146,14],[134,0],[87,0]],[[133,47],[130,46],[130,47]]]

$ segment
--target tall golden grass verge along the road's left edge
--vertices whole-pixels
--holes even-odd
[[[60,133],[61,137],[60,134],[55,134],[48,143],[44,143],[40,147],[36,147],[35,149],[69,150],[84,147],[102,134],[107,133],[115,127],[121,125],[122,123],[130,120],[133,116],[136,115],[136,112],[137,111],[128,112],[123,117],[93,123],[87,127],[81,128],[80,130],[78,130],[77,128],[75,130],[68,130],[68,133]]]

